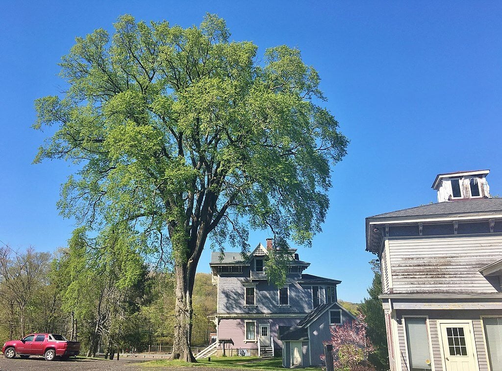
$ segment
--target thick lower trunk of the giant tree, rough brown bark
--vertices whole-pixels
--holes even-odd
[[[192,292],[195,270],[187,265],[175,264],[176,306],[174,326],[174,342],[171,359],[196,362],[190,345],[192,342]]]

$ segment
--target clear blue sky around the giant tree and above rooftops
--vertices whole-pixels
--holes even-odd
[[[60,57],[117,16],[199,24],[223,17],[232,39],[297,46],[319,71],[327,107],[350,140],[334,168],[331,209],[311,250],[311,274],[342,280],[358,301],[371,281],[364,218],[436,202],[439,172],[490,168],[502,194],[500,2],[0,2],[0,240],[41,251],[65,246],[74,228],[56,210],[68,164],[31,162],[49,133],[30,128],[33,101],[56,94]],[[250,244],[265,243],[252,234]],[[199,270],[208,272],[209,251]]]

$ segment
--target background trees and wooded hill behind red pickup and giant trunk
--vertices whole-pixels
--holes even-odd
[[[170,270],[155,270],[138,257],[105,250],[109,246],[97,248],[78,233],[68,248],[54,253],[0,248],[0,340],[61,333],[80,341],[87,355],[98,349],[142,351],[150,344],[171,345],[175,281]],[[215,311],[211,275],[198,273],[194,346],[208,343],[214,324],[207,316]]]

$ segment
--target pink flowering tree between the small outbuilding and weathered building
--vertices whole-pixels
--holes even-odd
[[[330,328],[331,341],[325,341],[324,344],[333,344],[335,368],[349,371],[360,369],[361,362],[374,351],[373,344],[366,336],[365,318],[363,314],[359,314],[357,320]],[[324,354],[321,359],[324,360]]]

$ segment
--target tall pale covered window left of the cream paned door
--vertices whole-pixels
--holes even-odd
[[[431,369],[429,335],[425,318],[407,317],[405,318],[405,324],[410,369]]]

